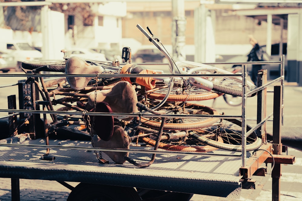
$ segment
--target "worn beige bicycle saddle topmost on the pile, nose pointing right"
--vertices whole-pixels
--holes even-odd
[[[84,59],[73,56],[66,61],[65,74],[97,74],[102,73],[101,66],[90,65]],[[75,90],[82,90],[92,77],[66,77],[68,84]]]

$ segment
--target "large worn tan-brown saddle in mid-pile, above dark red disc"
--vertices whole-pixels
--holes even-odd
[[[133,113],[138,112],[137,109],[137,95],[134,87],[127,81],[120,81],[109,90],[101,90],[92,92],[88,96],[88,103],[86,109],[89,110],[99,102],[107,102],[114,113]],[[132,117],[124,119],[130,121]]]

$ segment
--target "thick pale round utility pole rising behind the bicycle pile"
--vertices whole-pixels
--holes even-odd
[[[172,49],[173,59],[184,61],[186,55],[184,52],[185,46],[185,1],[172,0]]]

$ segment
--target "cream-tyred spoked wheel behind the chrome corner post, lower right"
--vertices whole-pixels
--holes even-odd
[[[246,130],[251,130],[251,127],[247,126]],[[237,119],[223,119],[212,126],[190,131],[190,134],[200,142],[219,149],[242,151],[242,122]],[[221,137],[223,142],[216,141],[213,135]],[[262,139],[257,137],[255,131],[246,138],[246,151],[258,149],[261,145]]]

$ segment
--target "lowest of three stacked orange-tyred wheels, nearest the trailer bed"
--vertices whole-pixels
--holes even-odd
[[[141,127],[139,127],[139,129],[141,129]],[[157,130],[139,130],[138,135],[143,135],[142,137],[139,137],[139,140],[143,143],[155,146],[158,135]],[[213,137],[216,136],[213,135]],[[213,140],[218,140],[221,143],[223,142],[222,138],[219,136]],[[218,149],[201,143],[200,140],[196,139],[194,136],[192,137],[189,133],[185,136],[177,135],[173,130],[164,131],[163,137],[158,144],[158,148],[178,152],[210,152]]]

